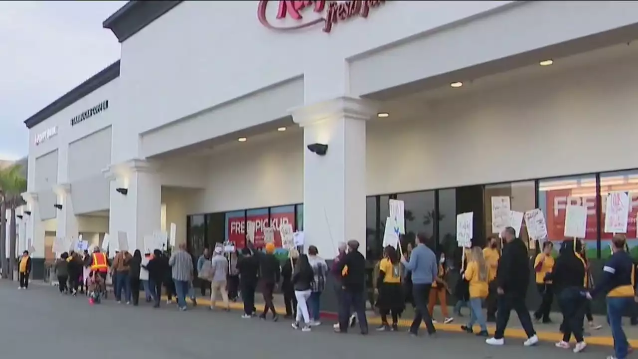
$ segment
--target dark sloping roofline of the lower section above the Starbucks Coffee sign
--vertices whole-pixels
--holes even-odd
[[[26,121],[24,121],[24,125],[26,125],[27,128],[32,128],[33,126],[38,125],[38,123],[45,121],[45,119],[57,114],[57,112],[66,109],[66,107],[77,102],[80,98],[89,95],[89,93],[92,93],[96,89],[108,84],[108,82],[117,79],[117,77],[119,77],[119,65],[120,61],[115,61],[107,68],[93,75],[90,79],[85,80],[76,88],[50,103],[47,107],[36,112],[36,114],[30,118],[27,118]]]

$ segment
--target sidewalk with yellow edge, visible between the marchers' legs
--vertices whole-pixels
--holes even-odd
[[[42,282],[42,281],[33,281],[33,284],[50,286],[50,284]],[[197,289],[197,302],[199,306],[205,307],[211,305],[209,298],[199,296],[199,291]],[[110,297],[109,297],[110,298]],[[257,312],[261,312],[263,310],[263,300],[259,293],[256,295],[256,303]],[[167,300],[164,296],[163,300]],[[285,306],[283,303],[283,296],[281,294],[276,294],[274,299],[276,310],[279,314],[285,314]],[[219,300],[216,303],[216,307],[223,308],[223,304]],[[230,308],[232,310],[243,310],[244,306],[241,302],[230,302]],[[449,307],[449,312],[453,313],[452,307]],[[457,332],[463,333],[461,330],[461,325],[464,325],[467,321],[467,317],[469,316],[468,309],[464,308],[461,310],[464,314],[464,317],[455,317],[454,321],[449,324],[437,323],[436,329],[442,332]],[[403,319],[399,319],[399,326],[401,327],[409,327],[412,324],[412,316],[413,310],[411,307],[408,307],[406,311],[403,313]],[[322,312],[322,318],[325,321],[329,321],[330,323],[336,323],[337,315],[336,313],[331,312]],[[434,308],[434,319],[438,321],[443,321],[443,316],[441,314],[440,307]],[[540,340],[547,342],[558,342],[562,339],[563,335],[558,332],[558,327],[560,326],[560,322],[562,320],[561,314],[554,312],[551,315],[551,319],[553,319],[553,323],[550,324],[542,324],[542,323],[534,323],[535,330],[537,330],[537,335]],[[367,320],[371,330],[375,326],[381,324],[381,318],[375,314],[372,310],[367,310]],[[594,316],[594,321],[598,325],[602,325],[600,330],[591,330],[588,328],[587,323],[585,323],[585,340],[590,345],[599,345],[599,346],[613,346],[613,339],[611,337],[611,330],[607,325],[607,321],[604,316]],[[627,334],[627,338],[629,339],[629,344],[633,348],[638,348],[638,326],[630,326],[629,319],[625,318],[624,323],[625,333]],[[424,327],[424,325],[422,325]],[[477,330],[478,328],[475,328]],[[490,333],[494,333],[494,323],[488,323],[487,329]],[[526,339],[527,335],[525,334],[523,328],[521,327],[521,323],[519,322],[518,317],[515,313],[512,313],[510,316],[510,322],[508,323],[508,328],[505,330],[505,337],[507,339]],[[572,339],[574,341],[574,339]]]

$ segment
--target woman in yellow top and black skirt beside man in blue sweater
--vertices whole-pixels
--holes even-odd
[[[376,280],[379,297],[376,307],[381,315],[381,326],[376,330],[382,332],[399,330],[399,316],[404,309],[403,285],[401,284],[401,261],[396,249],[385,247],[383,259],[379,263],[379,277]],[[392,327],[388,324],[388,314],[392,314]]]

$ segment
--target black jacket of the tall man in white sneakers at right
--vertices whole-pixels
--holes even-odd
[[[527,246],[519,238],[503,247],[496,269],[496,282],[505,294],[525,296],[530,284],[530,264]]]

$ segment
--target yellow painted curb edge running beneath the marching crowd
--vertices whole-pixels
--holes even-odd
[[[167,299],[165,296],[163,296],[162,298],[164,300]],[[190,300],[188,301],[190,302]],[[211,305],[210,300],[202,299],[202,298],[198,298],[197,303],[202,305]],[[263,305],[262,304],[260,305],[262,306],[260,308],[263,308]],[[221,302],[221,300],[219,300],[216,303],[216,307],[223,308],[223,303]],[[242,303],[230,302],[230,309],[244,310],[244,305]],[[277,310],[277,312],[280,312],[280,313],[286,311],[285,309],[280,307],[276,307],[275,309]],[[381,318],[379,317],[369,317],[367,321],[371,325],[381,325]],[[409,327],[410,325],[412,325],[412,320],[399,319],[399,326]],[[421,327],[425,328],[424,325],[421,325]],[[457,324],[437,323],[434,325],[434,327],[436,327],[436,330],[441,330],[443,332],[464,333],[464,331],[461,329],[460,324],[457,325]],[[478,327],[476,328],[478,329]],[[494,326],[487,326],[487,330],[489,330],[490,333],[494,333],[494,330],[496,330],[496,328],[494,328]],[[561,333],[555,333],[555,332],[537,332],[537,335],[538,335],[538,339],[546,341],[546,342],[560,342],[560,340],[563,339],[563,335]],[[525,340],[527,339],[527,334],[525,333],[523,329],[508,328],[507,330],[505,330],[505,337]],[[614,339],[612,339],[612,337],[591,336],[591,337],[586,337],[585,340],[587,344],[590,344],[590,345],[614,346]],[[628,339],[628,342],[632,348],[638,348],[638,339]]]

